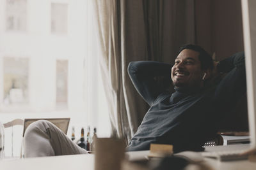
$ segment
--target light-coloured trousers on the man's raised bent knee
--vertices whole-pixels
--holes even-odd
[[[47,157],[88,153],[47,120],[29,125],[24,134],[24,157]]]

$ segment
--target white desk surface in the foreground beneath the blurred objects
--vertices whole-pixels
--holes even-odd
[[[148,155],[148,151],[128,152],[129,160],[139,159]],[[207,169],[223,169],[223,170],[238,170],[238,169],[256,169],[256,162],[249,160],[239,160],[231,162],[220,162],[215,159],[204,159],[205,166],[210,167]],[[195,168],[195,167],[193,167]],[[65,155],[56,157],[39,157],[31,159],[15,159],[15,160],[1,160],[0,169],[10,170],[93,170],[94,169],[94,155]]]

